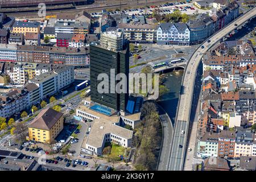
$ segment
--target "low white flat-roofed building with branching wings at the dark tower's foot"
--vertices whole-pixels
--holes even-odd
[[[118,115],[104,115],[85,105],[77,107],[76,115],[82,119],[93,121],[88,138],[82,143],[82,151],[101,155],[106,142],[131,147],[133,131],[119,126],[122,121]],[[137,119],[135,118],[135,120]]]

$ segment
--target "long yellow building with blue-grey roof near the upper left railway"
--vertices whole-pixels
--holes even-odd
[[[22,22],[15,21],[11,29],[11,33],[22,33],[26,35],[26,32],[34,32],[40,34],[39,22]]]

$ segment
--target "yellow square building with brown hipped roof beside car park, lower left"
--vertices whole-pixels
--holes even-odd
[[[43,109],[28,125],[30,140],[42,143],[53,143],[63,130],[63,113],[51,108]]]

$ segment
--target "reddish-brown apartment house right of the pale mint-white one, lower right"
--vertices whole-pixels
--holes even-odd
[[[221,130],[218,135],[218,156],[234,157],[236,133],[234,131]]]

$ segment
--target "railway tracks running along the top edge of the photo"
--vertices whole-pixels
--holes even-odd
[[[119,1],[115,1],[115,2],[119,2]],[[122,1],[121,5],[120,3],[115,3],[115,4],[111,4],[111,5],[79,5],[79,6],[73,6],[73,7],[64,7],[63,10],[60,9],[51,9],[50,7],[47,8],[46,10],[46,15],[56,15],[56,14],[71,14],[71,13],[77,13],[79,11],[82,10],[86,10],[88,11],[88,13],[94,13],[94,12],[99,12],[102,9],[125,9],[125,8],[138,8],[138,7],[143,7],[143,6],[151,6],[151,5],[159,5],[162,4],[164,2],[167,2],[166,0],[146,0],[146,1],[135,1],[135,0],[129,0],[129,1]],[[168,1],[168,2],[177,2],[177,1]],[[5,12],[7,10],[0,10],[1,12]],[[15,16],[16,18],[35,18],[35,15],[38,14],[38,9],[36,9],[36,7],[34,9],[30,9],[30,8],[20,8],[15,9],[14,12],[6,12],[7,15],[9,16]]]

